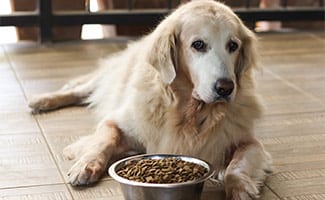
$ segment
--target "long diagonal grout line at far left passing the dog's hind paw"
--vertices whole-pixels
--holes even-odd
[[[27,102],[28,102],[28,99],[27,99],[26,91],[25,91],[25,89],[24,89],[24,86],[23,86],[22,80],[19,78],[19,75],[18,75],[17,71],[15,70],[14,66],[12,65],[12,63],[11,63],[11,59],[10,59],[10,56],[9,56],[9,54],[7,53],[6,49],[3,48],[2,45],[1,45],[1,48],[3,49],[4,55],[5,55],[5,57],[6,57],[6,60],[7,60],[8,64],[9,64],[9,66],[10,66],[10,69],[12,70],[12,72],[13,72],[13,74],[14,74],[14,76],[15,76],[15,79],[16,79],[17,83],[19,84],[19,87],[20,87],[20,89],[21,89],[21,91],[22,91],[22,93],[23,93],[23,96],[24,96],[25,102],[27,103]],[[69,187],[68,187],[67,184],[66,184],[66,181],[65,181],[64,175],[63,175],[63,173],[62,173],[61,170],[60,170],[59,164],[58,164],[57,160],[55,159],[54,152],[52,151],[51,146],[49,145],[48,139],[47,139],[46,135],[44,134],[44,130],[43,130],[43,128],[42,128],[42,126],[41,126],[41,124],[40,124],[38,118],[37,118],[35,115],[32,115],[32,116],[33,116],[33,118],[34,118],[34,120],[35,120],[35,122],[36,122],[36,124],[37,124],[37,127],[39,128],[39,131],[40,131],[40,133],[41,133],[41,135],[42,135],[43,140],[45,141],[45,145],[46,145],[46,147],[47,147],[47,150],[49,151],[49,154],[50,154],[50,157],[51,157],[52,161],[54,162],[54,164],[55,164],[55,166],[56,166],[56,170],[58,171],[58,173],[59,173],[61,179],[63,180],[63,183],[62,183],[62,184],[65,185],[65,187],[66,187],[66,189],[68,190],[68,192],[69,192],[71,198],[74,199],[74,198],[73,198],[73,195],[72,195],[72,193],[71,193],[71,191],[70,191],[70,189],[69,189]]]

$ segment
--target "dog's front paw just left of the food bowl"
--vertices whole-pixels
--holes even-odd
[[[99,180],[105,165],[99,159],[78,160],[68,172],[68,182],[73,186],[90,185]]]

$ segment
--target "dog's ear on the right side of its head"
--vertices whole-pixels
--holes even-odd
[[[258,67],[257,38],[255,34],[242,25],[242,48],[237,59],[235,74],[237,77],[249,69]]]

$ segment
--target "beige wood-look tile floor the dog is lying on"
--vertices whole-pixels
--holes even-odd
[[[272,33],[261,39],[263,72],[256,74],[265,100],[258,137],[274,158],[275,173],[261,199],[325,199],[325,34]],[[71,162],[64,146],[90,133],[91,111],[66,108],[33,116],[32,95],[58,89],[125,47],[121,41],[19,43],[0,46],[0,199],[123,200],[106,176],[90,188],[66,183]],[[202,200],[224,199],[211,184]]]

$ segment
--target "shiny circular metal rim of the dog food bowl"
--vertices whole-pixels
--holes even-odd
[[[160,158],[171,158],[171,157],[172,158],[180,158],[181,160],[201,165],[201,166],[207,168],[208,172],[199,179],[196,179],[193,181],[186,181],[186,182],[182,182],[182,183],[143,183],[143,182],[137,182],[137,181],[132,181],[132,180],[123,178],[116,173],[116,168],[119,167],[120,165],[123,165],[123,163],[125,163],[127,161],[140,160],[143,158],[160,159]],[[108,173],[109,173],[110,177],[113,178],[114,180],[116,180],[117,182],[123,183],[126,185],[130,185],[130,186],[176,188],[176,187],[195,185],[195,184],[204,182],[207,179],[211,178],[211,176],[214,174],[214,170],[212,168],[212,165],[210,163],[208,163],[207,161],[204,161],[202,159],[195,158],[192,156],[178,155],[178,154],[140,154],[140,155],[136,155],[136,156],[130,156],[130,157],[127,157],[127,158],[124,158],[124,159],[114,162],[109,167]]]

